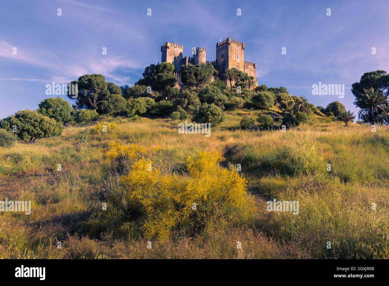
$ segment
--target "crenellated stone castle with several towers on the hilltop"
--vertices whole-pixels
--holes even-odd
[[[183,56],[184,46],[176,43],[166,42],[161,46],[162,60],[164,63],[172,63],[175,67],[175,76],[178,77],[178,84],[182,85],[180,80],[181,65],[199,65],[201,63],[208,63],[205,56],[205,49],[203,47],[193,47],[193,57]],[[219,78],[223,77],[223,73],[226,69],[236,68],[249,76],[254,77],[257,82],[255,70],[257,64],[251,61],[244,60],[244,42],[232,40],[228,37],[224,41],[220,41],[216,44],[216,60],[210,62],[214,68],[219,72]],[[211,81],[216,80],[212,76]]]

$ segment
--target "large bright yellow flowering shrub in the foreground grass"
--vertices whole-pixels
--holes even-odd
[[[194,235],[217,218],[247,219],[254,203],[247,194],[247,181],[237,171],[218,163],[220,154],[200,152],[196,160],[188,157],[187,176],[161,175],[152,162],[140,159],[128,175],[121,177],[123,198],[142,215],[140,230],[148,239],[165,241],[176,235]],[[135,219],[135,218],[130,218]],[[120,227],[128,224],[123,221]]]

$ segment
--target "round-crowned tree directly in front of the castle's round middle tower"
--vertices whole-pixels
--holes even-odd
[[[209,70],[201,66],[186,65],[182,66],[181,81],[187,86],[195,86],[196,92],[198,87],[211,81],[212,74]]]

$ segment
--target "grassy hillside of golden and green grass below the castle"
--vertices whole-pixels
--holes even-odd
[[[210,137],[179,134],[179,121],[171,119],[108,118],[117,127],[107,133],[93,124],[66,127],[61,137],[0,148],[0,199],[32,201],[31,215],[0,213],[0,257],[389,258],[389,127],[373,133],[367,125],[344,127],[312,114],[307,124],[285,133],[245,131],[239,129],[242,113],[226,112]],[[210,159],[201,152],[210,152]],[[225,160],[212,159],[216,153]],[[142,157],[152,162],[161,176],[156,180],[167,186],[163,195],[174,194],[149,199],[165,202],[183,194],[175,193],[179,188],[189,190],[191,182],[193,192],[209,183],[191,174],[188,156],[201,163],[200,171],[205,166],[208,173],[220,173],[221,184],[239,184],[243,177],[245,194],[237,188],[236,198],[209,202],[206,217],[177,217],[180,224],[166,235],[128,220],[140,218],[126,201],[130,187],[123,176],[135,170],[131,166]],[[221,167],[207,166],[213,160]],[[242,167],[239,178],[223,171],[236,164]],[[137,180],[145,180],[142,174]],[[299,214],[267,212],[266,201],[273,198],[299,201]],[[151,216],[180,209],[169,204]]]

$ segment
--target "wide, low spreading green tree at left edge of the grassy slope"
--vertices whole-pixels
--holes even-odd
[[[26,109],[2,119],[0,128],[9,132],[15,128],[16,132],[14,133],[20,140],[34,142],[39,138],[60,136],[63,125],[38,113],[37,110]]]

